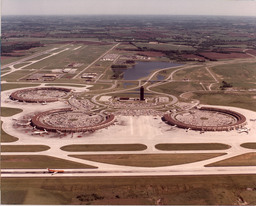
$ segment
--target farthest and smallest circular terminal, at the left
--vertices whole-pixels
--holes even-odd
[[[28,103],[55,102],[59,98],[66,97],[70,92],[71,89],[56,87],[22,89],[13,92],[10,99]]]

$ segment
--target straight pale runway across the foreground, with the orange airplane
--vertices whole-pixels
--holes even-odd
[[[93,176],[193,176],[193,175],[235,175],[255,174],[256,166],[207,167],[191,169],[144,168],[127,170],[64,169],[64,173],[49,173],[47,169],[3,169],[2,178],[19,177],[93,177]]]

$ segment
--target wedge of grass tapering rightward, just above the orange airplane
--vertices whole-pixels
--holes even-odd
[[[56,157],[44,155],[2,155],[3,169],[43,169],[43,168],[95,168]]]

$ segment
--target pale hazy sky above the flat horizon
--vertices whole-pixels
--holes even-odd
[[[2,15],[256,16],[256,0],[2,0]]]

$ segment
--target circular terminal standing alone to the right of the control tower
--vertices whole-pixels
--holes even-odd
[[[163,120],[172,126],[196,131],[230,131],[246,124],[244,115],[212,107],[165,114]]]

